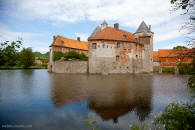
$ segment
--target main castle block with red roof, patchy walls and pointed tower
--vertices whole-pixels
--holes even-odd
[[[153,71],[153,32],[143,21],[132,34],[108,27],[106,21],[97,26],[89,42],[89,73],[139,73]]]

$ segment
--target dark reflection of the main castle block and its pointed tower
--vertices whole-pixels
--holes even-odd
[[[137,82],[136,85],[133,76],[113,78],[102,79],[102,84],[93,85],[88,98],[89,108],[103,120],[113,119],[115,123],[118,117],[135,110],[138,118],[143,121],[151,111],[151,77],[140,76],[143,82]]]

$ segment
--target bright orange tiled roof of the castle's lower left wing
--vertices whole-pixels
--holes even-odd
[[[61,46],[67,48],[75,48],[80,50],[88,50],[88,42],[68,39],[62,36],[57,36],[51,46]]]

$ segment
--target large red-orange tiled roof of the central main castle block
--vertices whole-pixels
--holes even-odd
[[[112,27],[106,27],[101,32],[93,37],[89,37],[88,40],[119,40],[119,41],[129,41],[137,42],[130,32],[124,30],[117,30]]]

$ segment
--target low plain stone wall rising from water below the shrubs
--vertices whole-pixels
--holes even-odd
[[[52,72],[85,74],[88,72],[88,61],[55,61],[52,65]]]

